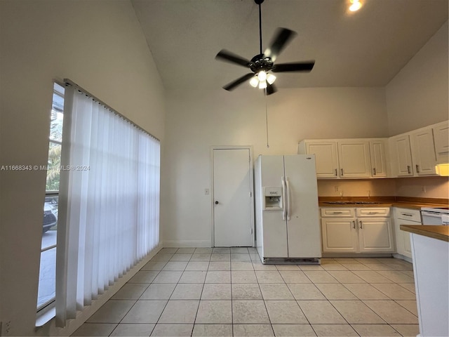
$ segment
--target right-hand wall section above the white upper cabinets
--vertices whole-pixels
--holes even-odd
[[[389,136],[449,119],[448,21],[385,87]]]

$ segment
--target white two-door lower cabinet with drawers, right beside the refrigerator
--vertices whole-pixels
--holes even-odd
[[[321,209],[323,253],[392,253],[388,207]]]

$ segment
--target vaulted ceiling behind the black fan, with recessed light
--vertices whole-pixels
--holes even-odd
[[[222,48],[259,53],[253,0],[131,1],[168,90],[220,88],[248,73],[215,60]],[[278,88],[385,86],[448,20],[448,0],[361,1],[357,12],[349,0],[264,1],[262,48],[286,27],[297,36],[276,62],[316,61],[310,73],[279,73]]]

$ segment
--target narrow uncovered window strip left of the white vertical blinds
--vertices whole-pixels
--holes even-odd
[[[53,105],[50,115],[48,163],[45,168],[46,196],[43,204],[41,267],[37,310],[46,308],[55,300],[56,234],[58,230],[59,180],[62,145],[62,118],[64,116],[64,87],[53,85]]]

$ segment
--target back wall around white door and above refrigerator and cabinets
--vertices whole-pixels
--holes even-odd
[[[303,138],[387,136],[383,88],[281,89],[265,101],[253,88],[167,93],[163,240],[209,245],[210,147],[253,145],[259,154],[295,154]]]

